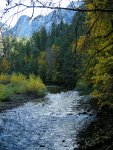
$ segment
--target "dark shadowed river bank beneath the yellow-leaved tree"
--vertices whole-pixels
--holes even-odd
[[[113,109],[96,109],[96,118],[79,133],[79,150],[113,150]]]

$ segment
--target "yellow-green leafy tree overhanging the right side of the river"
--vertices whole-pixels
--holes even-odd
[[[86,9],[113,9],[111,1],[85,1]],[[109,18],[109,19],[108,19]],[[113,103],[113,14],[109,12],[87,12],[86,27],[89,27],[82,42],[81,52],[84,71],[82,78],[85,80],[92,95],[98,100],[100,106]],[[109,98],[108,98],[109,97]]]

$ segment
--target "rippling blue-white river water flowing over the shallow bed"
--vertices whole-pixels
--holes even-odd
[[[77,109],[82,100],[77,91],[48,93],[0,113],[0,150],[76,149],[78,132],[92,119]]]

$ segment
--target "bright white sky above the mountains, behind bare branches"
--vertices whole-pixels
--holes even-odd
[[[12,1],[14,1],[15,3],[18,3],[19,1],[21,1],[21,3],[23,2],[24,4],[27,4],[27,5],[30,4],[30,0],[12,0]],[[44,4],[48,4],[50,2],[54,3],[54,6],[58,6],[59,2],[61,2],[60,3],[61,6],[66,7],[70,3],[71,0],[40,0],[40,1]],[[0,0],[0,17],[2,16],[4,8],[6,8],[6,4],[7,4],[6,0]],[[13,6],[13,4],[11,5]],[[13,16],[13,14],[15,14],[17,11],[21,11],[23,9],[24,8],[22,6],[16,9],[11,9],[5,16],[3,16],[0,22],[6,23],[8,26],[13,27],[21,15],[28,15],[30,17],[32,16],[33,9],[26,9],[25,11],[22,11]],[[50,9],[35,8],[33,18],[38,15],[47,15],[51,11],[52,10]]]

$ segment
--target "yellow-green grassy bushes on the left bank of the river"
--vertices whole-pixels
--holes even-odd
[[[6,84],[7,83],[7,84]],[[44,96],[46,87],[39,77],[33,74],[26,76],[13,73],[12,75],[0,75],[0,100],[5,101],[17,93],[33,93],[37,96]]]

